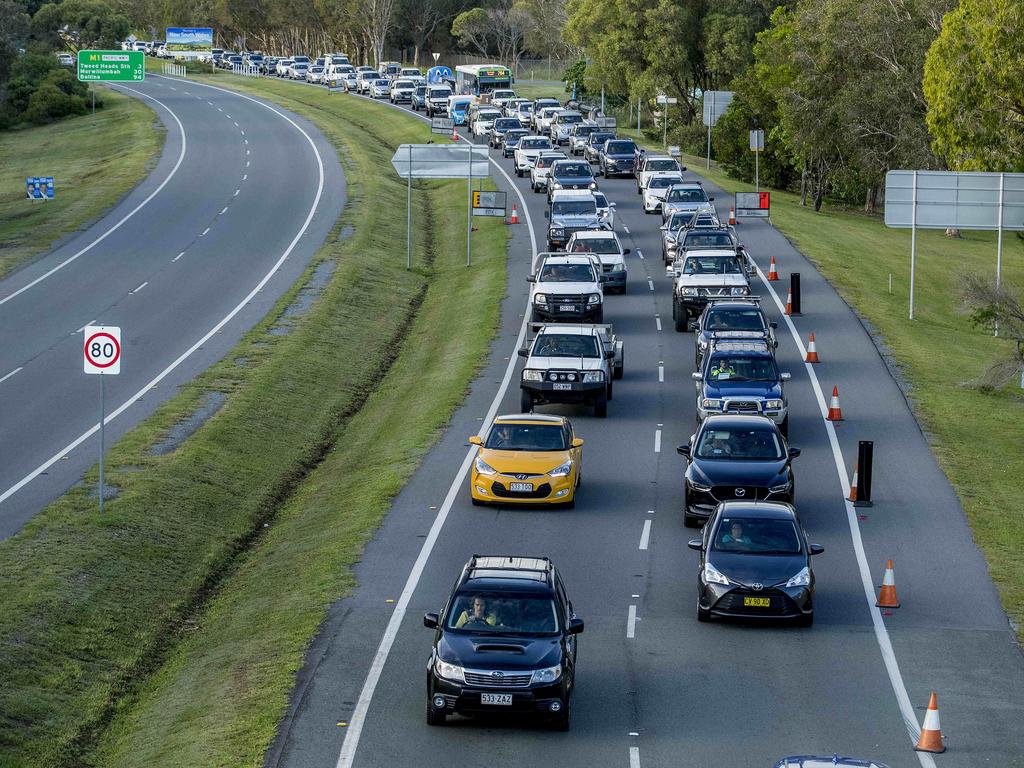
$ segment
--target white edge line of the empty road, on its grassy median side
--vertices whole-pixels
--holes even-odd
[[[151,75],[151,77],[161,77],[161,76],[160,75]],[[260,106],[264,108],[265,110],[269,110],[274,115],[278,115],[280,118],[282,118],[283,120],[287,120],[299,133],[301,133],[305,137],[306,141],[309,143],[309,146],[312,147],[313,156],[316,158],[316,166],[319,169],[319,183],[316,186],[316,196],[313,198],[313,203],[309,207],[309,213],[306,215],[305,221],[302,222],[302,226],[299,227],[299,230],[295,233],[295,237],[292,239],[292,242],[288,244],[288,248],[285,249],[285,252],[281,255],[281,258],[279,258],[273,263],[273,265],[270,267],[270,270],[266,274],[263,275],[262,280],[260,280],[260,282],[256,284],[256,286],[253,288],[253,290],[250,291],[246,295],[246,297],[243,298],[242,301],[240,301],[234,306],[233,309],[231,309],[230,312],[228,312],[226,315],[224,315],[220,319],[220,322],[217,323],[216,326],[214,326],[209,331],[207,331],[206,334],[199,341],[197,341],[195,344],[193,344],[190,347],[188,347],[188,349],[186,349],[184,352],[182,352],[167,368],[165,368],[163,371],[161,371],[159,374],[157,374],[148,383],[146,383],[145,386],[143,386],[135,394],[133,394],[131,397],[129,397],[127,400],[125,400],[123,403],[121,403],[121,406],[119,406],[117,408],[117,410],[113,411],[105,419],[103,419],[103,423],[104,424],[110,424],[112,421],[114,421],[115,419],[117,419],[119,416],[121,416],[121,414],[123,414],[132,404],[134,404],[135,401],[138,400],[139,397],[141,397],[142,395],[144,395],[146,392],[148,392],[151,389],[153,389],[155,386],[157,386],[157,384],[159,384],[161,381],[163,381],[165,378],[167,378],[167,376],[169,376],[170,373],[172,371],[174,371],[174,369],[176,369],[178,366],[180,366],[182,362],[184,362],[188,357],[190,357],[196,352],[197,349],[199,349],[206,342],[208,342],[210,339],[212,339],[217,333],[220,332],[220,330],[224,326],[226,326],[228,323],[230,323],[231,319],[234,317],[234,315],[237,315],[239,312],[241,312],[245,308],[246,304],[248,304],[250,301],[252,301],[253,298],[256,296],[256,294],[258,294],[260,291],[263,290],[263,287],[267,283],[269,283],[270,279],[274,274],[278,273],[279,269],[281,269],[282,264],[284,264],[285,261],[288,259],[288,257],[292,255],[292,251],[295,250],[295,246],[298,245],[299,240],[302,239],[302,236],[306,233],[306,229],[309,228],[309,224],[313,220],[313,215],[316,213],[316,209],[319,206],[321,198],[323,198],[323,196],[324,196],[324,175],[325,175],[325,172],[324,172],[324,159],[321,157],[319,151],[316,148],[316,143],[312,140],[312,137],[310,137],[310,135],[308,133],[306,133],[294,120],[292,120],[290,117],[288,117],[287,115],[285,115],[283,112],[279,112],[278,110],[275,110],[270,104],[265,103],[263,101],[260,101],[259,99],[252,98],[251,96],[247,96],[247,95],[245,95],[243,93],[236,93],[234,91],[229,91],[229,90],[227,90],[225,88],[219,88],[219,87],[217,87],[215,85],[206,85],[205,83],[197,83],[197,85],[200,85],[203,88],[212,88],[214,90],[224,91],[225,93],[229,93],[231,95],[239,96],[240,98],[245,98],[245,99],[247,99],[249,101],[252,101],[255,104],[259,104]],[[523,329],[525,329],[525,327],[526,327],[525,326],[525,321],[523,321]],[[30,482],[32,482],[34,479],[36,479],[39,475],[41,475],[47,469],[49,469],[54,464],[56,464],[58,461],[60,461],[61,457],[67,456],[68,454],[70,454],[72,451],[74,451],[75,449],[77,449],[79,445],[81,445],[83,442],[85,442],[87,439],[89,439],[92,435],[94,435],[98,431],[99,431],[99,424],[96,423],[96,424],[92,425],[92,427],[90,427],[88,430],[86,430],[81,435],[79,435],[75,440],[73,440],[68,445],[66,445],[63,449],[61,449],[59,453],[57,453],[56,455],[54,455],[50,459],[47,459],[45,462],[43,462],[38,467],[36,467],[36,469],[32,470],[32,472],[30,472],[29,474],[27,474],[25,477],[23,477],[16,483],[14,483],[9,488],[7,488],[5,492],[3,492],[3,494],[0,494],[0,504],[2,504],[4,501],[6,501],[10,497],[12,497],[14,494],[16,494],[23,487],[25,487],[26,485],[28,485]]]

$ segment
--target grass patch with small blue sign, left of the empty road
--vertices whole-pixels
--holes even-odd
[[[53,125],[0,132],[0,278],[83,228],[156,165],[165,131],[138,99],[103,89],[104,106]],[[53,176],[55,197],[25,197],[26,176]]]

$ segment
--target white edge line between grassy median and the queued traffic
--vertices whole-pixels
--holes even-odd
[[[410,114],[408,110],[403,110],[400,106],[395,105],[394,109],[406,115]],[[426,118],[420,117],[419,115],[414,115],[414,117],[418,117],[424,122],[429,122]],[[462,141],[470,143],[469,140],[463,136],[460,136],[459,138]],[[530,258],[532,259],[536,257],[538,252],[537,236],[534,232],[534,220],[529,215],[529,208],[526,206],[526,199],[523,197],[522,190],[516,186],[512,177],[506,173],[505,169],[498,165],[494,158],[488,158],[487,160],[495,168],[498,169],[499,173],[505,177],[505,179],[509,182],[509,185],[515,191],[516,197],[519,198],[519,203],[522,205],[523,217],[526,219],[527,232],[529,233]],[[519,334],[516,337],[515,349],[518,349],[523,345],[523,341],[526,337],[526,322],[528,316],[528,313],[525,313],[522,318],[522,323],[519,325]],[[484,429],[486,429],[490,422],[494,421],[495,416],[497,416],[498,408],[505,398],[505,392],[508,390],[509,382],[512,380],[512,374],[515,372],[517,362],[518,355],[513,353],[509,356],[509,362],[505,369],[505,375],[502,377],[502,383],[498,387],[498,391],[495,393],[495,398],[490,402],[490,408],[487,409],[486,416],[483,418],[483,424],[480,427],[479,434],[483,434]],[[351,768],[352,762],[355,760],[355,751],[359,746],[359,738],[362,734],[362,725],[367,721],[370,703],[373,700],[374,692],[377,690],[377,684],[380,682],[381,675],[384,672],[384,665],[387,664],[387,657],[391,652],[391,646],[394,645],[394,641],[398,637],[398,630],[401,628],[401,623],[406,617],[406,611],[409,609],[410,600],[412,600],[413,593],[416,591],[417,586],[419,586],[420,578],[423,575],[423,569],[426,567],[427,560],[430,559],[434,545],[440,537],[441,528],[444,527],[444,522],[447,520],[449,513],[452,511],[452,505],[455,503],[456,496],[462,489],[463,483],[466,480],[466,474],[469,472],[469,466],[475,453],[476,447],[471,447],[466,452],[466,458],[463,459],[462,465],[459,467],[459,471],[456,472],[455,478],[452,480],[452,485],[449,487],[449,493],[444,497],[444,501],[441,503],[440,508],[437,510],[437,516],[434,518],[434,522],[430,526],[430,531],[427,534],[427,538],[424,540],[423,546],[420,548],[420,553],[417,555],[416,562],[413,563],[413,569],[409,572],[409,578],[406,580],[406,586],[402,588],[401,595],[399,595],[398,601],[394,605],[394,611],[391,613],[391,618],[388,620],[387,627],[384,630],[384,636],[381,638],[380,645],[377,646],[377,652],[374,654],[374,659],[370,664],[370,670],[367,672],[367,679],[362,683],[362,689],[359,691],[359,698],[355,702],[355,709],[352,711],[351,717],[348,718],[348,731],[345,733],[345,740],[342,742],[341,751],[338,753],[336,768]]]

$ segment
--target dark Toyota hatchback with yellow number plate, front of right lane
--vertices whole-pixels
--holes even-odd
[[[814,622],[811,556],[797,511],[776,502],[720,504],[703,537],[689,543],[700,553],[697,621],[712,616]]]

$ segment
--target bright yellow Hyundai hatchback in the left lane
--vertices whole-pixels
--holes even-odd
[[[583,469],[583,440],[562,416],[499,416],[486,438],[469,441],[473,460],[469,493],[474,505],[575,503]]]

